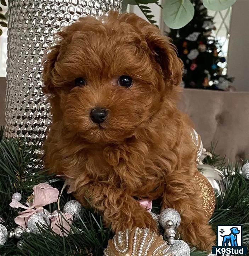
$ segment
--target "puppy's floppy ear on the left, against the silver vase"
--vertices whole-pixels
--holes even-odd
[[[47,49],[46,54],[43,57],[42,64],[43,64],[43,82],[44,87],[42,88],[42,91],[47,93],[53,93],[54,92],[54,86],[53,86],[53,74],[55,72],[55,63],[57,60],[57,57],[59,55],[59,45],[55,45]]]

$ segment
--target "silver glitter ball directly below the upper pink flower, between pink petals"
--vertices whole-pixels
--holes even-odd
[[[49,217],[47,217],[47,215],[44,213],[34,213],[28,219],[28,228],[30,228],[32,233],[34,234],[39,234],[40,228],[43,228],[44,226],[49,226],[49,224]],[[38,226],[40,228],[38,228]]]

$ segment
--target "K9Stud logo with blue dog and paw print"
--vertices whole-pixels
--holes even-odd
[[[213,254],[240,255],[247,253],[247,247],[242,246],[242,226],[222,225],[217,227],[217,246],[213,246]]]

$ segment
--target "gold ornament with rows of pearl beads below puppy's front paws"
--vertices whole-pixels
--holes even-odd
[[[148,228],[119,231],[104,250],[104,256],[170,256],[170,245]]]

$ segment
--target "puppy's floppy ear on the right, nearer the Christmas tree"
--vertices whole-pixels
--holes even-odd
[[[150,32],[146,34],[145,39],[155,62],[160,66],[165,82],[179,85],[182,80],[183,63],[177,57],[176,48],[170,43],[169,37]]]

